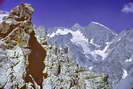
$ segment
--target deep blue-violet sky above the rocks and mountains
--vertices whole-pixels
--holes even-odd
[[[2,0],[4,1],[4,0]],[[35,8],[33,23],[47,28],[72,26],[79,23],[88,25],[91,21],[104,24],[120,32],[133,28],[133,0],[5,0],[1,10],[10,10],[16,5],[27,2]],[[125,7],[129,7],[124,9]]]

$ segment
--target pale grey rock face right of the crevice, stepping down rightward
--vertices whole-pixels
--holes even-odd
[[[68,49],[47,48],[43,89],[111,89],[107,75],[85,70],[68,56]]]

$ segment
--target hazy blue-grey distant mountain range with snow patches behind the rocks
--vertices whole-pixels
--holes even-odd
[[[50,32],[49,32],[50,30]],[[68,54],[77,64],[88,70],[109,75],[113,86],[127,77],[133,77],[133,30],[119,34],[110,28],[91,22],[82,27],[48,29],[48,43],[68,48]]]

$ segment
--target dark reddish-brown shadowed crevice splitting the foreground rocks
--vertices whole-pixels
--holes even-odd
[[[29,39],[29,47],[31,49],[31,53],[28,58],[29,65],[27,67],[27,75],[25,81],[32,82],[34,84],[34,79],[42,89],[43,77],[45,77],[43,74],[43,69],[45,68],[44,59],[46,57],[46,50],[38,43],[34,35],[34,32],[32,32]]]

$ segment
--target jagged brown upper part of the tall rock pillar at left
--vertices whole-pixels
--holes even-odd
[[[9,16],[5,17],[0,24],[0,39],[9,43],[9,46],[17,44],[26,46],[28,34],[33,32],[31,22],[33,11],[31,5],[27,3],[22,3],[12,9]]]

